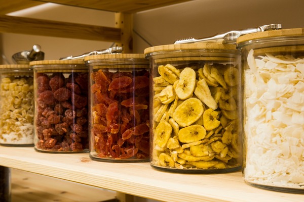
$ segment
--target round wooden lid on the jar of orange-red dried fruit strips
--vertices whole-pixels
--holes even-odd
[[[144,54],[104,54],[85,57],[85,61],[106,59],[145,59],[145,57]]]

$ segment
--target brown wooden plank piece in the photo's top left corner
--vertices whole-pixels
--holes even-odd
[[[2,0],[0,6],[0,15],[8,14],[14,11],[27,9],[30,7],[45,4],[45,2],[29,1],[29,0]]]

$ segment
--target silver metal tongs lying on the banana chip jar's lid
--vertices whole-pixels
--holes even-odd
[[[270,24],[270,25],[263,25],[255,28],[248,28],[248,29],[243,29],[243,30],[233,30],[229,32],[224,32],[224,33],[219,33],[215,34],[210,37],[206,38],[200,38],[200,39],[195,39],[195,38],[185,38],[185,39],[179,39],[174,42],[174,44],[180,44],[180,43],[230,43],[230,44],[235,44],[237,41],[237,38],[244,35],[244,34],[250,34],[254,32],[263,32],[263,31],[268,31],[268,30],[278,30],[282,29],[281,24]]]

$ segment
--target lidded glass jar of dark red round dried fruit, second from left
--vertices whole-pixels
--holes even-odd
[[[50,153],[89,151],[89,70],[81,60],[34,61],[34,147]]]

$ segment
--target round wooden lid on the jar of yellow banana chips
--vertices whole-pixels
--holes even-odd
[[[144,49],[144,54],[161,52],[161,51],[178,51],[178,50],[199,50],[199,49],[223,49],[223,50],[236,50],[234,44],[222,43],[182,43],[182,44],[169,44],[148,47]]]

